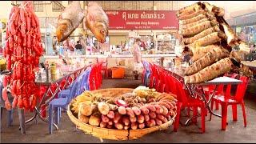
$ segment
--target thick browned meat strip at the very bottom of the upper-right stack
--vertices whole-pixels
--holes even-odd
[[[221,74],[225,74],[231,70],[233,62],[230,58],[223,58],[222,60],[215,62],[211,66],[198,71],[198,73],[185,76],[184,82],[187,83],[200,83],[207,82],[213,78],[217,78]]]

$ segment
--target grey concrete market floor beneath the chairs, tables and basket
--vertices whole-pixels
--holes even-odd
[[[135,88],[140,85],[140,80],[103,80],[102,88],[108,87],[130,87]],[[255,90],[255,89],[254,89]],[[254,94],[255,95],[255,94]],[[254,97],[255,98],[255,97]],[[226,131],[221,129],[221,119],[213,117],[212,121],[208,121],[209,116],[206,118],[206,133],[201,134],[199,127],[201,126],[201,120],[198,118],[198,126],[180,126],[177,133],[173,132],[173,126],[165,131],[158,131],[144,136],[138,140],[126,141],[126,142],[141,142],[141,143],[152,143],[152,142],[255,142],[256,137],[254,132],[256,130],[255,123],[255,110],[256,103],[248,102],[246,100],[246,116],[247,116],[247,127],[243,127],[242,121],[242,110],[238,106],[238,122],[232,122],[231,118],[231,106],[229,107],[228,122],[229,125]],[[185,115],[184,111],[182,115]],[[221,110],[218,110],[218,113]],[[6,110],[2,114],[2,134],[0,142],[78,142],[78,143],[92,143],[100,142],[98,138],[94,138],[89,134],[84,134],[81,130],[75,130],[74,124],[70,121],[67,114],[62,113],[61,123],[58,125],[59,130],[54,130],[54,134],[48,134],[48,124],[38,122],[30,122],[26,125],[26,134],[22,135],[18,130],[18,113],[14,111],[14,126],[9,128],[6,127]],[[26,119],[30,118],[32,114],[26,114]],[[186,117],[182,117],[182,122],[186,122]],[[118,142],[111,140],[104,140],[104,142]]]

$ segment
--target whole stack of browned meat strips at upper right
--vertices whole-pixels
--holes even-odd
[[[196,2],[178,10],[182,43],[192,55],[193,64],[186,68],[186,83],[206,82],[230,70],[252,72],[242,65],[242,54],[249,49],[227,24],[224,10],[208,2]],[[234,51],[232,47],[239,46]]]

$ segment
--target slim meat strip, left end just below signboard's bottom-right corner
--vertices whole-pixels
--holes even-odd
[[[206,30],[212,26],[218,25],[218,22],[216,20],[212,21],[206,21],[202,22],[196,26],[192,26],[186,30],[180,30],[180,33],[183,35],[183,37],[193,37],[195,34],[199,34],[203,30]]]

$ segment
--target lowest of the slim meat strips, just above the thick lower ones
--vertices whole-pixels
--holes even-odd
[[[191,38],[183,38],[183,42],[187,45],[190,43],[193,43],[194,41],[198,40],[199,38],[203,38],[208,34],[214,33],[216,31],[219,31],[218,26],[210,27],[206,30],[203,30],[201,33],[194,35],[194,37]]]

